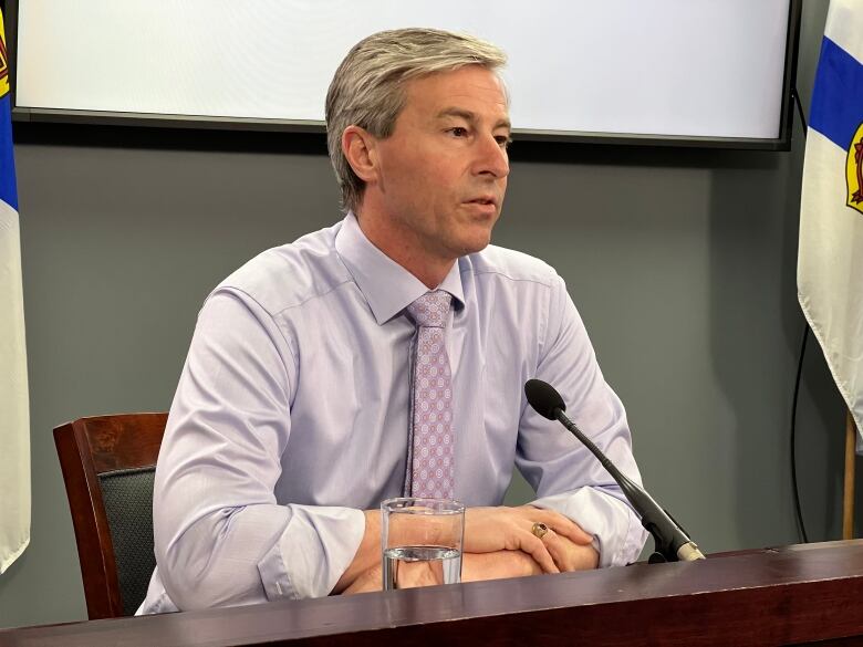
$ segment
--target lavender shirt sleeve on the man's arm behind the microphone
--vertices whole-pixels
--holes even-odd
[[[553,385],[582,431],[621,471],[641,482],[623,405],[605,383],[581,317],[557,275],[548,321],[536,377]],[[557,510],[594,535],[600,565],[637,557],[646,533],[620,487],[585,447],[527,403],[516,462],[538,493],[531,505]]]

